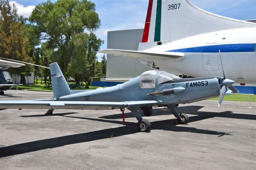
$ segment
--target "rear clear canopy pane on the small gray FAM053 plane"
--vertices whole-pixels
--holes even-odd
[[[155,88],[156,87],[157,71],[146,71],[140,76],[140,88]]]

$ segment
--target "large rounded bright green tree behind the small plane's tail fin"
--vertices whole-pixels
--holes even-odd
[[[86,57],[90,60],[94,55],[86,47],[90,46],[93,31],[100,27],[95,4],[87,0],[58,0],[56,3],[48,0],[34,8],[29,20],[40,32],[40,40],[46,48],[53,50],[52,61],[58,62],[62,73],[70,67],[70,73],[78,79],[82,74],[78,70],[84,70]],[[99,49],[101,43],[98,39],[92,46]]]

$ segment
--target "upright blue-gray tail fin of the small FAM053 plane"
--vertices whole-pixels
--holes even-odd
[[[52,90],[54,98],[68,95],[70,93],[70,88],[60,70],[58,63],[50,64],[50,73],[52,77]]]

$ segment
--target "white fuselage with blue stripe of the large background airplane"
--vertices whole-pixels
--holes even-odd
[[[223,77],[237,83],[256,83],[256,28],[238,28],[210,32],[173,42],[140,43],[138,51],[183,52],[178,59],[153,59],[156,67],[194,77]]]

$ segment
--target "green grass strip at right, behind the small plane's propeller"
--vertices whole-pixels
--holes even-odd
[[[242,95],[242,94],[231,94],[231,95],[226,95],[224,96],[224,101],[250,101],[250,96],[251,96],[251,101],[256,102],[256,95]],[[219,100],[219,97],[212,98],[209,100]]]

